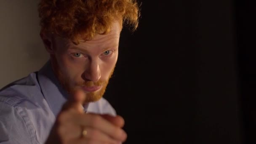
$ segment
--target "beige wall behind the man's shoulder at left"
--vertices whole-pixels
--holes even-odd
[[[0,88],[48,59],[40,40],[38,0],[0,0]]]

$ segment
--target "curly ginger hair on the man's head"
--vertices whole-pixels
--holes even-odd
[[[95,34],[107,34],[113,21],[138,27],[140,16],[136,0],[40,0],[40,26],[78,44],[78,39],[91,40]]]

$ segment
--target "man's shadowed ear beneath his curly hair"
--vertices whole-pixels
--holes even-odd
[[[51,33],[45,32],[45,31],[40,31],[40,37],[43,40],[43,44],[45,46],[46,51],[48,53],[53,54],[53,37]]]

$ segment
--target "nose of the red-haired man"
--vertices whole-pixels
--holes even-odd
[[[91,61],[84,73],[85,79],[97,82],[101,78],[101,71],[98,61]]]

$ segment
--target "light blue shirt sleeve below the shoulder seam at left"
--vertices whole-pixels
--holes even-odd
[[[21,108],[0,102],[0,144],[35,144],[33,133]]]

